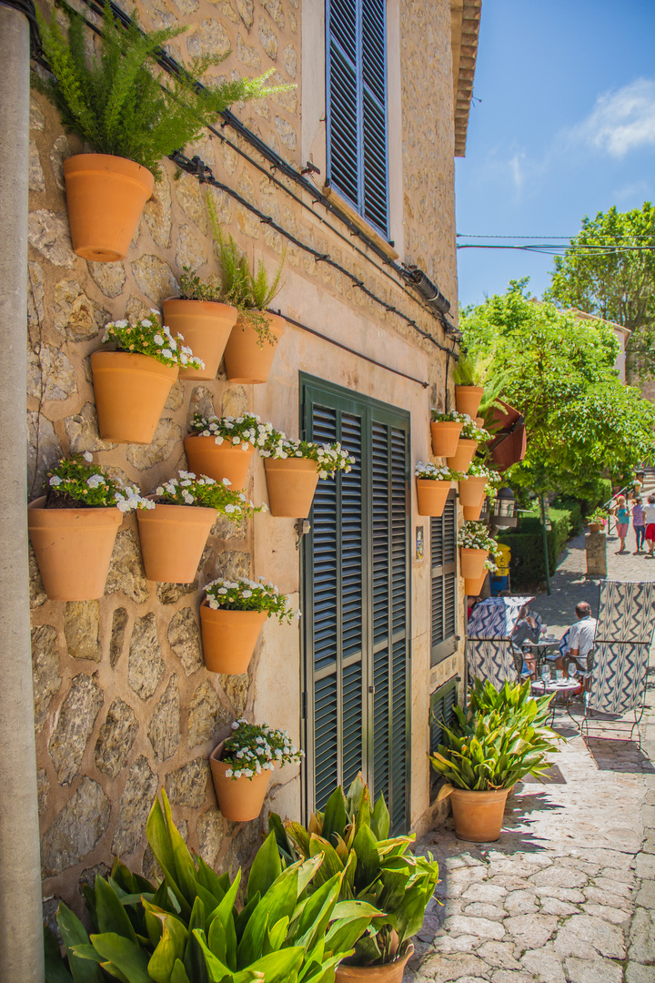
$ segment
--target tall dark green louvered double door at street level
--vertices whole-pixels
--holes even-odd
[[[361,771],[409,825],[409,414],[301,378],[308,439],[349,474],[318,483],[303,540],[305,807]]]

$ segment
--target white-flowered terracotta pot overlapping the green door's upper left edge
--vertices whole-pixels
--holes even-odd
[[[351,471],[355,458],[339,442],[292,440],[280,431],[269,434],[259,453],[264,458],[271,515],[306,519],[319,478]]]

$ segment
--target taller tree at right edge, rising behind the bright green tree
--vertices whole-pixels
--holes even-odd
[[[545,299],[628,327],[630,366],[641,378],[655,377],[655,206],[585,215],[572,246],[555,260]]]

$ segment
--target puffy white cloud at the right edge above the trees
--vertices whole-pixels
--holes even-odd
[[[637,79],[614,92],[604,92],[575,129],[578,136],[614,157],[655,145],[655,81]]]

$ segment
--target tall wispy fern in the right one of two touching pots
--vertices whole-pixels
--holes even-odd
[[[263,347],[264,341],[275,344],[277,338],[270,329],[264,311],[282,286],[280,280],[287,251],[283,252],[280,265],[272,279],[261,260],[257,260],[257,269],[253,272],[246,255],[239,249],[231,233],[226,234],[221,228],[214,202],[209,195],[207,195],[207,211],[221,267],[226,303],[236,307],[243,320],[254,328],[260,348]],[[245,325],[242,327],[245,328]]]

